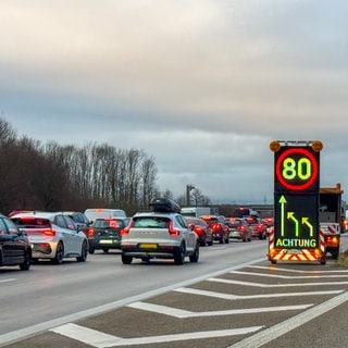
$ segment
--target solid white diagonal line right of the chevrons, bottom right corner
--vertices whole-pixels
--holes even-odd
[[[284,334],[287,334],[291,330],[302,326],[303,324],[314,320],[315,318],[328,312],[335,307],[340,306],[341,303],[348,300],[348,293],[338,295],[326,302],[318,304],[298,315],[295,315],[286,321],[278,323],[274,326],[271,326],[256,335],[247,337],[235,345],[229,346],[228,348],[259,348],[268,344],[270,340],[281,337]]]

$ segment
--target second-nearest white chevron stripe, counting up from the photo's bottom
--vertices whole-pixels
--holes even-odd
[[[179,319],[185,318],[200,318],[200,316],[216,316],[216,315],[234,315],[234,314],[253,314],[253,313],[264,313],[264,312],[277,312],[277,311],[290,311],[290,310],[302,310],[309,307],[310,304],[298,304],[298,306],[274,306],[274,307],[259,307],[259,308],[241,308],[241,309],[232,309],[223,311],[209,311],[209,312],[190,312],[185,310],[179,310],[176,308],[171,308],[166,306],[146,303],[146,302],[134,302],[127,307],[140,309],[145,311],[150,311],[154,313],[160,313],[164,315],[175,316]]]

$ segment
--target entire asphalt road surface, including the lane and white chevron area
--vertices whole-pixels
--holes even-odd
[[[348,270],[271,265],[266,250],[266,240],[236,241],[182,266],[96,253],[2,270],[0,346],[348,347]]]

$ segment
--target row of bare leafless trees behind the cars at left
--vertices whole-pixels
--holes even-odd
[[[128,214],[159,195],[153,157],[108,144],[61,146],[18,136],[0,119],[0,211],[122,208]]]

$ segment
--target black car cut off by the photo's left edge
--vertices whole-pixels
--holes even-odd
[[[0,266],[18,265],[22,271],[28,271],[30,264],[29,239],[10,217],[0,214]]]

